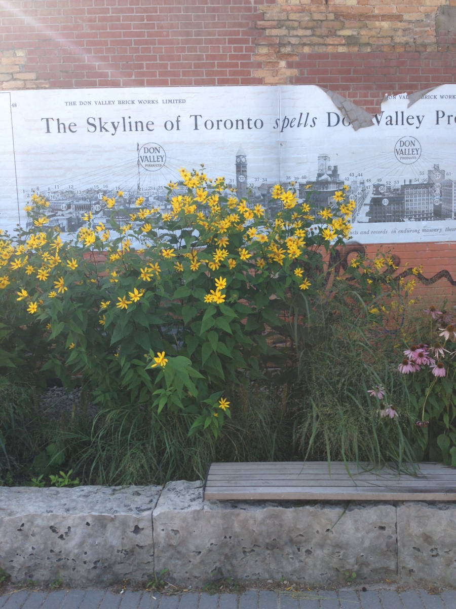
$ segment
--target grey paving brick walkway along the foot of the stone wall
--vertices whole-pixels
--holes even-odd
[[[286,593],[249,591],[243,594],[188,592],[160,595],[150,592],[112,594],[105,590],[19,591],[0,596],[0,609],[456,609],[456,591],[428,594],[425,590],[356,593]]]

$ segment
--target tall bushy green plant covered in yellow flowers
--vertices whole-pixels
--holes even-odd
[[[277,185],[272,219],[222,177],[181,178],[168,184],[168,213],[143,197],[134,213],[122,193],[104,197],[108,211],[86,214],[74,241],[49,227],[49,203],[33,195],[32,228],[1,241],[0,288],[43,324],[44,368],[64,383],[82,375],[102,404],[167,407],[193,418],[191,432],[217,435],[227,387],[281,357],[268,331],[280,333],[290,300],[311,297],[325,250],[349,236],[354,202],[345,187],[311,213],[293,184]]]

